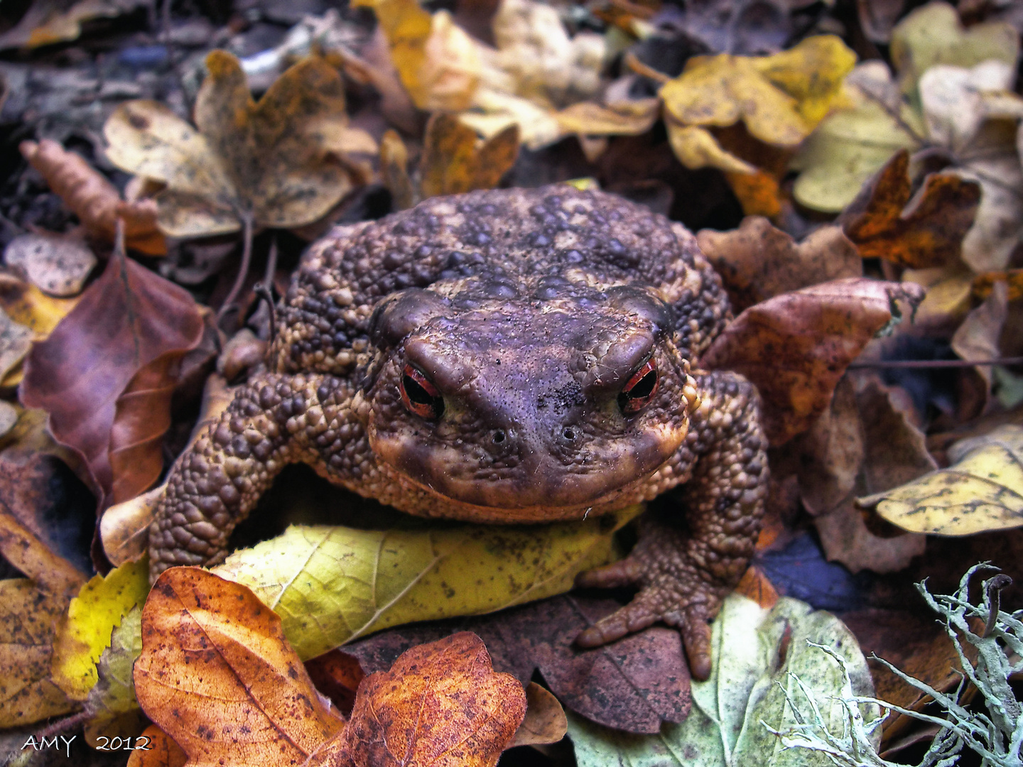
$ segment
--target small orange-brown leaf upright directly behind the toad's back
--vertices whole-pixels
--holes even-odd
[[[491,189],[515,165],[518,155],[519,129],[516,126],[480,142],[476,131],[457,118],[440,112],[434,115],[427,124],[419,161],[422,197]]]

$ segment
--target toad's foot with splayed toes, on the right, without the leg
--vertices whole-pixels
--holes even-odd
[[[585,588],[638,586],[631,602],[590,626],[576,638],[582,647],[596,647],[641,631],[658,621],[682,635],[690,671],[697,679],[710,676],[710,625],[721,599],[735,584],[720,582],[687,561],[685,535],[644,517],[632,552],[612,565],[582,573],[576,585]]]

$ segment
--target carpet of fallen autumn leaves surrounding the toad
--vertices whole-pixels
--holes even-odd
[[[23,46],[18,55],[29,57],[56,40],[78,40],[75,50],[91,51],[106,33],[90,19],[114,19],[105,24],[116,29],[131,8],[87,5],[37,0],[20,25],[5,27],[4,44]],[[579,570],[620,555],[628,526],[618,534],[614,526],[542,534],[297,527],[220,566],[221,576],[238,583],[199,571],[168,575],[168,582],[181,579],[174,581],[180,593],[152,592],[143,610],[148,585],[132,574],[145,570],[135,560],[159,493],[149,488],[186,444],[213,366],[211,352],[195,352],[197,367],[183,360],[201,336],[212,349],[217,335],[204,304],[222,312],[233,305],[248,335],[216,337],[217,369],[235,378],[261,364],[272,330],[265,310],[247,307],[255,306],[251,286],[260,273],[270,281],[275,269],[283,275],[295,263],[300,246],[283,230],[314,237],[335,222],[507,184],[574,180],[637,196],[644,184],[659,184],[660,210],[703,229],[699,242],[739,315],[700,364],[740,370],[757,384],[775,484],[792,491],[760,555],[769,555],[772,537],[783,542],[796,526],[815,526],[829,559],[873,579],[860,581],[866,585],[850,606],[894,614],[849,614],[857,634],[873,629],[871,646],[897,644],[914,613],[885,602],[891,579],[907,567],[946,575],[945,562],[931,554],[945,549],[925,534],[980,541],[1004,531],[997,550],[1018,552],[1014,561],[1023,556],[1013,501],[1023,495],[1013,472],[1023,386],[1012,362],[1023,356],[1014,330],[1023,295],[1023,98],[1012,14],[996,4],[907,9],[864,0],[856,18],[843,21],[858,30],[840,37],[831,6],[811,17],[802,3],[771,5],[770,20],[759,27],[749,27],[746,5],[729,7],[721,29],[708,27],[707,14],[724,10],[715,3],[705,12],[656,2],[594,2],[572,11],[534,0],[502,0],[488,10],[468,3],[427,9],[412,0],[362,5],[373,18],[349,9],[308,16],[259,43],[272,46],[266,55],[239,60],[211,51],[209,35],[191,44],[187,61],[173,45],[161,46],[165,63],[157,65],[170,76],[167,87],[129,88],[114,73],[110,82],[122,85],[107,92],[123,95],[97,98],[102,105],[81,130],[96,137],[105,123],[102,146],[54,127],[61,108],[71,119],[81,115],[59,99],[32,101],[42,109],[35,122],[18,112],[31,126],[18,136],[31,139],[14,155],[31,170],[18,172],[16,189],[0,188],[14,201],[11,217],[0,219],[0,460],[10,467],[0,502],[32,497],[24,489],[43,478],[57,487],[57,475],[33,462],[42,455],[66,462],[106,508],[100,543],[118,567],[86,583],[55,553],[65,544],[49,535],[44,513],[26,515],[18,501],[11,508],[24,520],[3,517],[4,556],[20,571],[13,575],[26,576],[0,581],[10,596],[5,604],[14,605],[6,623],[30,627],[4,645],[4,725],[81,711],[78,721],[96,746],[138,736],[141,703],[187,748],[150,727],[153,751],[132,752],[136,765],[227,764],[241,751],[259,759],[253,755],[265,743],[235,731],[237,721],[222,712],[204,711],[202,695],[174,693],[194,712],[184,726],[153,703],[153,678],[176,680],[181,690],[194,679],[187,664],[147,655],[144,637],[202,634],[220,637],[226,651],[219,660],[203,655],[209,673],[223,674],[226,658],[232,674],[260,680],[238,691],[238,710],[254,715],[271,741],[299,743],[284,761],[387,764],[380,746],[398,738],[430,763],[494,764],[509,745],[551,742],[568,726],[579,764],[672,763],[682,753],[707,764],[808,763],[783,750],[759,721],[785,731],[793,724],[785,701],[810,701],[814,690],[869,694],[868,672],[841,624],[779,597],[765,575],[773,571],[760,559],[741,588],[762,605],[729,597],[714,624],[717,687],[691,687],[678,636],[663,628],[611,648],[572,645],[615,602],[564,592]],[[177,12],[161,34],[184,39]],[[256,28],[248,24],[225,47],[243,47],[235,42],[250,39]],[[889,40],[886,58],[873,43]],[[6,64],[3,72],[20,77]],[[10,103],[24,111],[29,101],[15,93]],[[126,182],[122,172],[134,178]],[[172,281],[184,281],[185,249],[221,254],[195,271],[191,295]],[[164,254],[165,264],[139,260]],[[906,359],[904,350],[924,348],[932,351]],[[957,359],[960,367],[940,372],[884,367]],[[209,378],[212,404],[201,422],[229,396],[218,380]],[[957,434],[968,436],[953,444]],[[38,530],[24,527],[30,523]],[[501,556],[494,544],[508,536],[519,536],[540,563],[516,561],[516,577],[501,582],[493,577],[494,552]],[[393,583],[373,555],[384,542],[401,566]],[[106,573],[99,548],[93,560]],[[86,554],[76,552],[76,561]],[[349,563],[339,567],[342,560]],[[491,574],[489,585],[460,588],[466,573]],[[173,608],[187,602],[185,593],[196,604],[187,619]],[[1015,593],[1006,590],[1006,598]],[[171,606],[158,610],[165,598]],[[239,604],[247,605],[241,613]],[[430,619],[444,620],[403,625]],[[805,645],[804,634],[841,645],[833,651],[845,665]],[[312,659],[346,640],[356,640],[346,645],[351,655]],[[411,655],[399,659],[405,650]],[[510,676],[490,671],[490,658]],[[914,673],[934,680],[928,683],[940,694],[954,694],[942,667],[950,656],[934,649],[928,658]],[[319,669],[319,691],[299,659]],[[969,674],[972,663],[961,657],[957,668]],[[134,680],[133,665],[142,675]],[[445,681],[417,686],[416,670]],[[732,671],[745,681],[722,684]],[[891,679],[880,666],[872,671]],[[392,676],[380,676],[386,673]],[[395,684],[407,688],[398,697]],[[886,684],[890,694],[905,694]],[[354,703],[351,728],[322,697],[327,687],[347,695],[346,706]],[[428,688],[446,692],[431,697]],[[261,719],[263,697],[253,708],[254,690],[268,701],[301,702],[301,716]],[[919,709],[923,701],[910,703]],[[424,706],[448,723],[433,738],[407,719]],[[835,723],[835,707],[811,719]],[[874,748],[881,729],[865,714],[856,726],[874,732]],[[482,730],[480,721],[488,723]],[[906,715],[894,721],[883,728],[888,747],[911,748],[936,731]],[[240,738],[226,750],[204,734],[225,726]],[[471,730],[482,737],[466,739]],[[567,763],[555,752],[542,758]]]

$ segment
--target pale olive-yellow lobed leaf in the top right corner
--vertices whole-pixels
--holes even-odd
[[[891,55],[902,92],[915,95],[920,78],[935,64],[971,67],[981,61],[1005,61],[1013,71],[1020,37],[1005,21],[963,27],[955,9],[944,2],[917,8],[892,30]]]

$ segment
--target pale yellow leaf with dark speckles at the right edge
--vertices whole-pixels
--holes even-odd
[[[1023,527],[1023,427],[1005,424],[949,448],[954,461],[868,498],[892,525],[915,533],[973,535]]]

